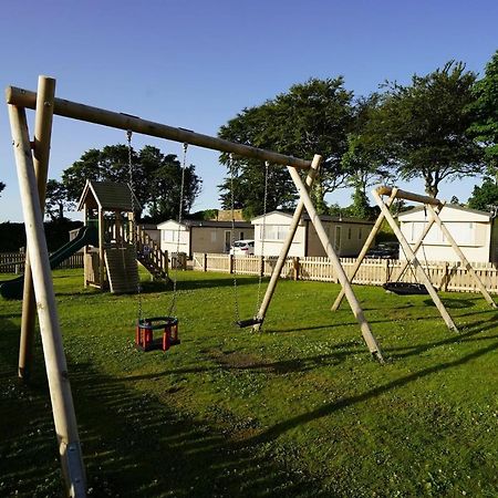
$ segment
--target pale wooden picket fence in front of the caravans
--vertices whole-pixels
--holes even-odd
[[[277,257],[229,256],[194,253],[194,270],[218,271],[236,274],[263,274],[269,277]],[[341,264],[351,279],[355,258],[341,258]],[[477,286],[469,272],[459,262],[427,261],[422,266],[433,284],[443,291],[477,292]],[[382,286],[398,279],[403,261],[393,259],[365,259],[353,283]],[[498,268],[494,263],[473,263],[477,276],[489,292],[498,293]],[[336,273],[329,258],[288,258],[280,273],[281,278],[338,282]],[[408,267],[402,282],[417,282],[412,267]]]

